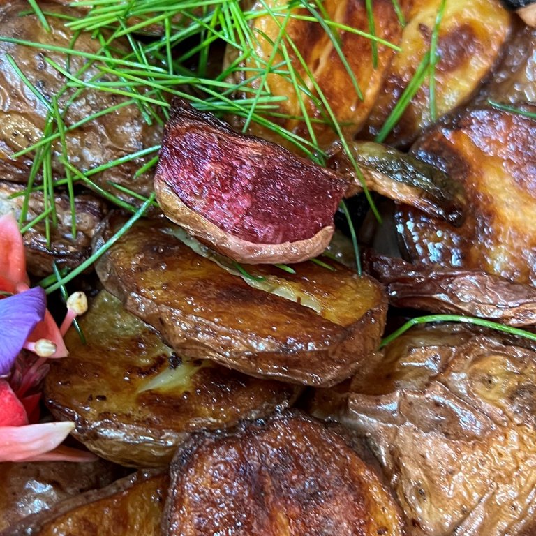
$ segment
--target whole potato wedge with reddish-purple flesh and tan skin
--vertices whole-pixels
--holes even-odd
[[[154,180],[165,215],[239,262],[324,251],[346,181],[212,114],[174,101]]]

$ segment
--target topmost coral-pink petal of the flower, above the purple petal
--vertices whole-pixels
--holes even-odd
[[[0,276],[15,285],[29,283],[22,234],[17,220],[11,213],[0,216]]]

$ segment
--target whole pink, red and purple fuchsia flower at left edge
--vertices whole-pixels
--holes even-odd
[[[74,304],[73,304],[74,302]],[[62,329],[47,311],[45,291],[30,288],[24,242],[12,214],[0,217],[0,462],[90,461],[93,454],[59,446],[73,422],[38,423],[47,359],[65,357],[66,332],[87,301],[77,292]]]

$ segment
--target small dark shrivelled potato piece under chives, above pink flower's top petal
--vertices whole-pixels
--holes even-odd
[[[25,186],[13,182],[0,181],[0,215],[13,212],[19,218],[24,203],[22,193]],[[75,195],[76,237],[73,238],[70,200],[66,194],[54,196],[57,227],[50,230],[50,245],[47,245],[45,223],[39,222],[24,233],[27,269],[34,276],[47,276],[52,272],[52,262],[57,267],[74,268],[91,255],[91,239],[95,228],[107,213],[105,202],[94,195],[82,193]],[[34,192],[29,196],[27,222],[45,210],[43,193]]]

